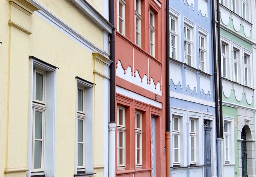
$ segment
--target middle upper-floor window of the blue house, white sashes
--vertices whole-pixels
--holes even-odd
[[[192,61],[192,28],[185,26],[184,24],[184,54],[185,62],[189,66],[193,65]]]

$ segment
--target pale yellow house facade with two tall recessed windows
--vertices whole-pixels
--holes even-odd
[[[0,176],[108,176],[108,4],[0,2]],[[102,143],[104,145],[102,145]]]

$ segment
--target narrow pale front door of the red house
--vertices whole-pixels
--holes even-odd
[[[151,117],[151,176],[156,177],[156,118]]]

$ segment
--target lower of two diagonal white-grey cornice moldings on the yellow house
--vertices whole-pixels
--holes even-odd
[[[110,54],[106,51],[103,51],[102,49],[95,46],[92,42],[90,42],[88,39],[84,38],[81,34],[76,32],[76,30],[72,29],[70,26],[68,26],[66,23],[64,23],[62,20],[60,20],[58,17],[54,16],[50,11],[48,11],[46,8],[44,8],[41,4],[36,2],[35,0],[29,0],[32,4],[35,6],[38,6],[40,8],[39,11],[36,11],[35,13],[44,18],[47,22],[52,24],[52,26],[55,26],[58,30],[64,32],[67,36],[72,38],[74,41],[82,44],[82,46],[85,46],[90,52],[98,52],[105,56],[106,58],[109,58]]]

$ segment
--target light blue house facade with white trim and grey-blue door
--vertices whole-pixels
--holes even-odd
[[[216,177],[212,1],[170,0],[170,176]]]

